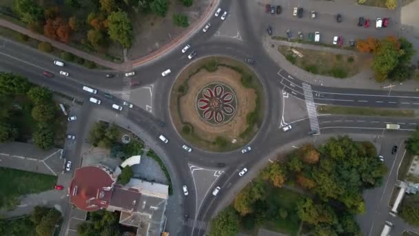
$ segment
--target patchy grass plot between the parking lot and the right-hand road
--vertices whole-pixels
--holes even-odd
[[[303,57],[298,57],[291,49],[288,46],[278,46],[278,51],[289,62],[314,75],[346,78],[356,75],[365,66],[369,67],[367,57],[359,55],[337,55],[319,50],[293,48],[303,54]]]

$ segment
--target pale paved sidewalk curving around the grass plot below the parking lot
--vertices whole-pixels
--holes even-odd
[[[274,44],[274,48],[271,47],[271,44]],[[389,90],[389,88],[382,88],[389,86],[390,84],[396,85],[391,90],[395,91],[406,91],[406,92],[415,92],[416,88],[419,88],[419,83],[413,80],[404,81],[400,85],[397,82],[385,81],[384,83],[377,83],[374,79],[369,79],[374,77],[374,72],[372,70],[362,70],[357,75],[353,77],[348,77],[346,79],[338,79],[334,77],[327,77],[323,75],[313,75],[297,66],[294,66],[292,63],[287,61],[283,55],[278,52],[278,45],[293,46],[296,48],[306,48],[311,50],[322,50],[326,52],[332,52],[336,54],[351,55],[357,54],[359,52],[354,52],[351,50],[342,50],[338,48],[329,48],[324,46],[316,46],[305,43],[291,43],[288,41],[275,40],[270,37],[265,37],[263,39],[263,47],[267,54],[278,63],[280,67],[286,70],[290,75],[297,77],[307,83],[311,83],[316,86],[325,86],[325,87],[334,87],[334,88],[360,88],[360,89],[374,89],[374,90]]]

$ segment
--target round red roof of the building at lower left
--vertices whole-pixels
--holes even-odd
[[[114,179],[98,166],[76,169],[70,184],[70,202],[81,210],[106,208],[112,196]]]

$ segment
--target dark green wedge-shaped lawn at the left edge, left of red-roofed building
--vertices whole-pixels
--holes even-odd
[[[9,206],[16,197],[51,190],[57,177],[0,167],[0,208]]]

